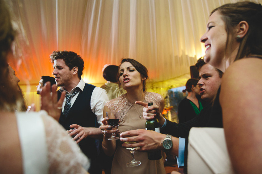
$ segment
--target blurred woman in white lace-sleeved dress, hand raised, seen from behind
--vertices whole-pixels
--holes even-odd
[[[56,87],[43,88],[43,107],[48,111],[20,111],[23,99],[19,79],[7,66],[15,31],[6,4],[0,0],[0,171],[1,173],[87,173],[87,157],[52,116],[60,115],[64,96],[57,102]],[[14,82],[14,83],[13,83]],[[85,169],[84,169],[84,168]]]

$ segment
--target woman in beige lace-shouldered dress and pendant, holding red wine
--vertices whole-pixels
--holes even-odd
[[[103,126],[100,126],[104,134],[102,147],[108,156],[114,155],[112,174],[136,173],[136,174],[159,174],[166,173],[163,159],[148,160],[147,153],[135,152],[135,160],[141,161],[141,165],[127,167],[131,161],[130,150],[121,147],[120,140],[108,140],[112,132],[119,133],[126,129],[145,129],[146,120],[143,119],[143,106],[135,104],[136,101],[153,102],[158,105],[162,112],[164,107],[163,96],[153,92],[146,92],[146,79],[148,71],[145,66],[134,59],[122,59],[119,66],[118,83],[127,91],[126,94],[109,100],[104,107]],[[107,126],[107,111],[120,111],[120,124],[115,130]]]

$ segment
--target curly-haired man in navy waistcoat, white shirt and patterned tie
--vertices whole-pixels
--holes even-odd
[[[80,55],[72,51],[53,51],[50,59],[56,85],[60,87],[58,99],[61,92],[66,91],[59,123],[66,130],[76,129],[70,135],[77,133],[73,139],[91,160],[88,172],[101,174],[96,139],[103,139],[99,125],[102,124],[104,105],[109,100],[107,92],[81,78],[84,61]]]

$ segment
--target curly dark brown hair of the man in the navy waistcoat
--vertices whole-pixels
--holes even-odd
[[[70,70],[74,67],[78,67],[77,74],[78,78],[81,79],[84,69],[84,60],[80,55],[77,55],[73,51],[53,51],[49,58],[51,63],[54,63],[57,59],[63,59]]]

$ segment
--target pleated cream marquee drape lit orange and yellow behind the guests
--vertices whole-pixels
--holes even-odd
[[[49,55],[74,51],[85,62],[82,78],[102,84],[105,64],[133,58],[151,82],[189,73],[204,55],[200,37],[210,12],[235,0],[11,0],[20,35],[15,71],[23,84],[52,75]],[[261,3],[261,0],[258,1]],[[35,89],[33,89],[35,90]]]

